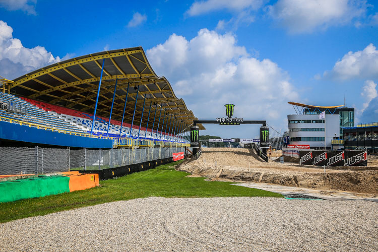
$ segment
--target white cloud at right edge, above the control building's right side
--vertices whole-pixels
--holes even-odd
[[[337,80],[378,78],[378,50],[373,44],[369,44],[362,51],[349,51],[324,76]]]

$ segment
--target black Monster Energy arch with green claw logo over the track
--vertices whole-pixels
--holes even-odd
[[[198,136],[200,135],[200,128],[197,126],[198,123],[214,123],[219,125],[240,125],[240,124],[263,124],[260,127],[260,147],[262,152],[267,154],[267,148],[269,148],[269,127],[267,127],[266,120],[244,120],[243,118],[232,117],[234,114],[234,104],[225,104],[226,116],[218,117],[216,120],[194,120],[193,126],[191,127],[191,147],[193,148],[193,155],[197,153],[197,148],[200,148],[200,143],[198,141]]]

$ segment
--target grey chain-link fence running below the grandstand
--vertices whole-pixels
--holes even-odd
[[[101,170],[172,157],[183,147],[70,150],[0,147],[0,175]]]

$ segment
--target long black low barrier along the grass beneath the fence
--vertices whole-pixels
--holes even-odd
[[[103,169],[103,170],[86,170],[86,171],[80,171],[80,172],[85,173],[85,174],[97,173],[100,180],[105,180],[105,179],[110,179],[113,177],[125,176],[134,172],[154,169],[155,167],[159,165],[163,165],[163,164],[167,164],[171,162],[173,162],[173,157],[156,159],[152,161],[125,165],[125,166],[120,166],[116,168],[108,168],[108,169]]]

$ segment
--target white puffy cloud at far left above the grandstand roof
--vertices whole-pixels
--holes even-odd
[[[3,77],[14,79],[61,60],[42,46],[24,47],[12,33],[12,27],[0,20],[0,74]]]

